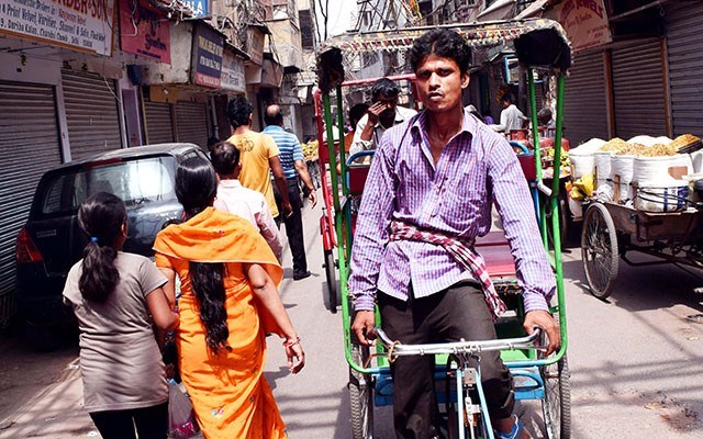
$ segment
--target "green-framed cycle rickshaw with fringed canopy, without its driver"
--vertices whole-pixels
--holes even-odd
[[[555,170],[559,173],[561,154],[561,131],[563,89],[567,69],[571,64],[569,42],[561,26],[549,20],[525,20],[511,22],[489,22],[475,24],[453,24],[473,48],[500,49],[514,47],[522,66],[526,68],[533,126],[537,126],[535,98],[536,69],[547,70],[556,77],[557,112],[555,133]],[[496,322],[499,338],[491,341],[456,341],[433,345],[402,345],[388,339],[379,331],[376,347],[360,346],[350,331],[352,303],[348,297],[349,255],[353,241],[354,205],[348,200],[364,184],[355,183],[356,175],[364,176],[352,165],[357,157],[345,158],[344,148],[334,149],[334,134],[331,95],[336,94],[338,138],[344,137],[342,111],[342,83],[344,81],[343,52],[406,50],[414,38],[429,27],[402,29],[362,34],[346,34],[325,42],[317,54],[319,87],[323,103],[326,143],[324,156],[331,169],[334,205],[334,229],[336,232],[338,277],[342,292],[342,319],[345,339],[345,356],[349,364],[349,396],[352,426],[355,439],[373,437],[373,407],[392,404],[393,383],[390,362],[398,356],[434,354],[437,401],[444,402],[447,431],[451,438],[493,438],[490,418],[480,382],[480,371],[467,365],[468,358],[480,357],[481,351],[501,350],[501,357],[515,376],[516,399],[538,399],[542,402],[545,432],[550,439],[570,437],[570,387],[567,363],[567,320],[565,309],[563,281],[561,270],[561,245],[559,239],[549,239],[559,234],[559,180],[554,179],[551,188],[543,183],[539,148],[518,156],[526,183],[533,190],[535,217],[539,223],[542,241],[550,256],[557,294],[551,312],[560,322],[561,348],[549,357],[543,357],[536,345],[543,342],[538,331],[526,336],[522,320],[521,286],[516,278],[515,264],[502,230],[489,233],[477,240],[477,250],[483,256],[491,279],[509,305],[509,313]],[[539,134],[533,133],[533,145],[539,145]],[[338,154],[338,159],[337,159]],[[335,172],[337,160],[341,175]],[[356,189],[355,189],[356,188]],[[378,313],[377,313],[378,326]],[[479,368],[480,369],[480,368]],[[442,385],[444,382],[446,385]],[[448,415],[451,413],[453,415]],[[456,426],[453,428],[451,426]]]

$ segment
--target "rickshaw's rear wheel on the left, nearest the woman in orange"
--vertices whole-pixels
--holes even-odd
[[[369,348],[352,345],[352,359],[364,364],[369,357]],[[349,403],[352,406],[352,436],[354,439],[373,437],[373,384],[371,374],[349,369]]]

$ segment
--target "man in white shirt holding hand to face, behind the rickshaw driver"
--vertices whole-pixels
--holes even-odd
[[[386,130],[417,114],[415,110],[398,106],[400,88],[388,78],[381,78],[371,88],[372,104],[357,123],[349,155],[376,149]]]

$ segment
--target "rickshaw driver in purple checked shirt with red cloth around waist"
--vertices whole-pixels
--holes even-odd
[[[425,110],[389,128],[371,162],[352,251],[352,329],[370,344],[377,303],[386,333],[404,344],[495,338],[492,317],[504,305],[473,249],[494,202],[524,290],[525,329],[543,328],[550,353],[560,341],[548,308],[554,273],[512,148],[462,109],[470,49],[437,29],[415,40],[409,58]],[[393,363],[398,438],[438,437],[433,370],[432,356]],[[528,438],[512,415],[512,378],[499,352],[482,353],[481,379],[496,437]]]

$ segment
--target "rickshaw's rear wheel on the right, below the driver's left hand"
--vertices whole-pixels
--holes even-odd
[[[545,383],[542,413],[545,418],[547,438],[570,439],[571,386],[569,384],[569,363],[566,353],[556,363],[542,367],[539,373]]]

